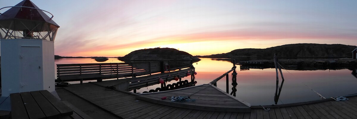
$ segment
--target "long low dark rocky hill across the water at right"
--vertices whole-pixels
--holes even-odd
[[[234,57],[352,57],[351,51],[356,46],[343,44],[313,44],[299,43],[265,49],[236,49],[228,53],[201,56],[206,58],[234,58]]]

